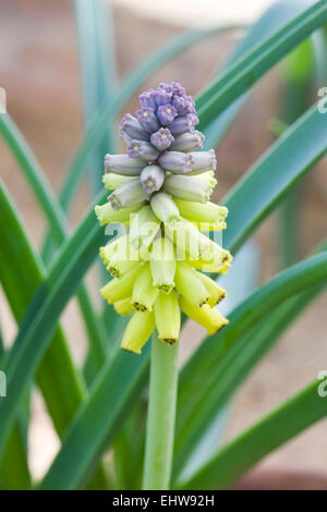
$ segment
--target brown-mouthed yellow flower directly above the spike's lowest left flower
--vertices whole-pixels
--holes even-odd
[[[149,264],[137,269],[137,277],[133,287],[132,305],[137,312],[152,312],[159,290],[153,285]]]

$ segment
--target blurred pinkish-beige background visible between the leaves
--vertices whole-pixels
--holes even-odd
[[[270,0],[113,0],[118,80],[152,50],[183,28],[213,24],[252,24],[271,3]],[[82,95],[78,70],[74,4],[66,0],[0,0],[0,87],[7,90],[8,111],[24,133],[46,170],[55,191],[83,133]],[[199,42],[157,72],[144,88],[160,81],[180,81],[189,94],[197,94],[240,40],[242,29],[216,35]],[[327,84],[325,84],[327,86]],[[312,100],[316,92],[312,92]],[[255,87],[245,107],[217,150],[219,200],[233,183],[274,141],[269,122],[280,112],[280,66],[269,72]],[[134,111],[135,101],[125,111]],[[9,150],[0,141],[1,176],[12,194],[36,247],[44,233],[44,216],[19,172]],[[89,202],[87,187],[81,187],[71,223],[74,225]],[[327,234],[326,159],[310,173],[301,194],[296,222],[301,230],[299,255],[305,256]],[[265,281],[282,266],[278,212],[255,233],[259,249],[258,279]],[[23,263],[22,263],[23,264]],[[246,272],[246,268],[244,268]],[[88,275],[93,284],[93,273]],[[1,290],[0,290],[1,293]],[[8,344],[16,332],[15,322],[0,295],[0,321]],[[327,294],[322,295],[282,337],[282,340],[256,366],[233,400],[229,411],[227,438],[258,419],[302,385],[327,369]],[[82,363],[85,351],[83,330],[72,301],[63,315],[63,325],[73,340],[73,354]],[[183,357],[201,337],[201,328],[187,329],[182,342]],[[306,430],[272,455],[266,458],[253,475],[312,471],[327,478],[327,422]],[[45,413],[40,395],[33,399],[29,432],[31,466],[40,477],[59,448],[59,441]],[[272,473],[271,473],[272,472]]]

